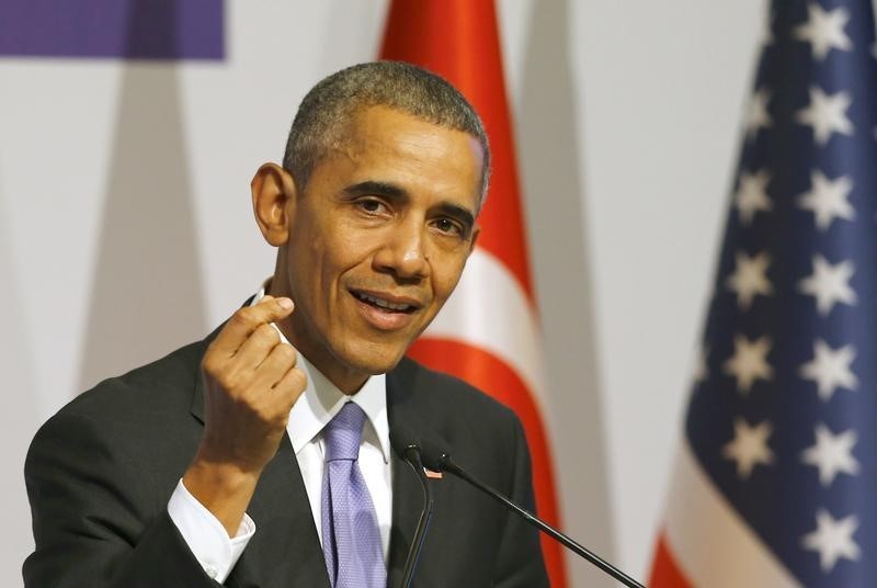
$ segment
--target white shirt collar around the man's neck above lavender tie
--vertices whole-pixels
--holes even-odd
[[[265,295],[266,280],[250,305],[258,304]],[[272,325],[285,343],[289,341],[276,325]],[[298,353],[297,368],[305,372],[308,384],[289,411],[286,428],[293,450],[298,452],[320,434],[323,427],[341,410],[348,402],[356,403],[365,412],[369,426],[363,430],[363,440],[380,449],[384,462],[389,463],[390,438],[387,421],[387,380],[385,374],[369,376],[363,387],[348,396],[332,384],[301,352]]]

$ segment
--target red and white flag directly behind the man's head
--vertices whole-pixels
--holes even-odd
[[[510,406],[524,423],[540,517],[559,524],[540,404],[539,328],[517,188],[492,0],[395,0],[380,50],[444,77],[481,115],[492,173],[479,216],[481,235],[457,291],[409,354],[466,380]],[[567,585],[561,546],[543,535],[551,586]]]

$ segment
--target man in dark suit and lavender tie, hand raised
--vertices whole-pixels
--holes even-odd
[[[304,99],[283,163],[251,184],[277,248],[262,292],[37,433],[26,586],[397,586],[421,509],[398,426],[532,507],[511,411],[403,359],[478,235],[489,150],[471,106],[413,66],[354,66]],[[431,484],[417,586],[547,586],[535,532]]]

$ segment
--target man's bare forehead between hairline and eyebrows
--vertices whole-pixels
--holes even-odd
[[[399,183],[476,207],[483,166],[476,137],[385,106],[361,109],[345,131],[323,160],[334,173],[351,182]]]

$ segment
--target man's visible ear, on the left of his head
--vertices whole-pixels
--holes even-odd
[[[253,214],[262,236],[274,247],[289,238],[289,222],[295,212],[295,181],[276,163],[264,163],[250,182]]]

